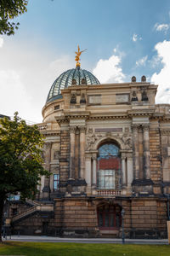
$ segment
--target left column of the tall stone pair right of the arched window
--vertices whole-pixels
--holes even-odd
[[[139,179],[139,125],[133,125],[134,178]]]

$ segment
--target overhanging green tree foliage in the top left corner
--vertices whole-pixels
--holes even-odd
[[[14,22],[14,18],[27,11],[28,0],[0,0],[0,34],[14,35],[14,30],[20,23]]]

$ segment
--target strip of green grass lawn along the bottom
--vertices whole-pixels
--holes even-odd
[[[170,246],[6,241],[0,255],[170,256]]]

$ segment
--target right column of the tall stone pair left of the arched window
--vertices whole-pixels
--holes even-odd
[[[85,126],[80,127],[80,178],[84,178],[85,175]]]

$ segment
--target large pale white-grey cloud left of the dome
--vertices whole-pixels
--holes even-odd
[[[13,44],[7,39],[0,58],[0,113],[42,122],[42,107],[48,91],[60,73],[73,67],[69,56],[43,54],[29,44]],[[54,59],[54,61],[53,61]],[[55,61],[57,60],[57,61]]]

